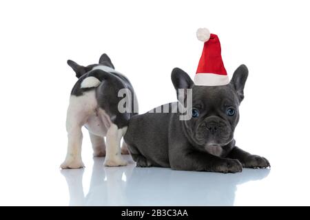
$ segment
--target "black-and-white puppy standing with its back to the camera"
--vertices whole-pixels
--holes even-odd
[[[125,166],[127,162],[121,157],[121,151],[127,153],[127,147],[123,142],[121,150],[121,138],[126,132],[128,120],[135,114],[134,111],[138,111],[130,81],[116,72],[107,54],[101,56],[99,64],[83,67],[68,60],[68,65],[79,80],[71,91],[66,120],[68,153],[61,168],[84,167],[81,158],[82,126],[90,133],[94,157],[105,156],[105,166]],[[118,103],[122,100],[118,91],[121,89],[129,92],[126,96],[134,97],[130,99],[134,111],[118,111]]]

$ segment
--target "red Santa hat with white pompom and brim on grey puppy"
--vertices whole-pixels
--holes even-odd
[[[210,34],[207,28],[197,30],[197,39],[205,42],[203,54],[198,64],[195,85],[217,86],[227,85],[229,78],[220,55],[220,40],[216,34]]]

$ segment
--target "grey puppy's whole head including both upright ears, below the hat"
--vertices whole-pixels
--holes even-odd
[[[187,107],[192,118],[183,123],[187,137],[196,146],[207,149],[225,146],[233,140],[247,74],[247,67],[240,65],[228,85],[211,87],[195,86],[182,69],[172,71],[175,89],[192,89],[192,106]]]

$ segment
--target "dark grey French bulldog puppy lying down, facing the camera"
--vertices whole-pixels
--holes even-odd
[[[196,86],[182,69],[173,69],[177,93],[178,89],[192,89],[192,108],[187,109],[192,117],[180,120],[180,111],[173,109],[175,103],[169,103],[169,112],[176,113],[134,115],[124,138],[136,166],[220,173],[270,166],[265,157],[235,146],[234,129],[247,76],[247,67],[240,65],[228,85]]]

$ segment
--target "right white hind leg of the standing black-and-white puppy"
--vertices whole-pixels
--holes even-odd
[[[110,124],[107,130],[107,148],[105,156],[105,166],[125,166],[127,162],[121,156],[121,138],[126,132],[127,127],[118,129],[114,123]]]

